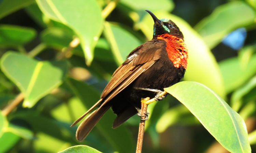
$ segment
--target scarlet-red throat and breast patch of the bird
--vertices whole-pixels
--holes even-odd
[[[186,69],[188,52],[184,40],[170,34],[159,35],[157,39],[166,41],[166,51],[174,67],[180,68],[182,65]]]

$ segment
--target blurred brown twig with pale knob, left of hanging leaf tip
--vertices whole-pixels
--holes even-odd
[[[61,52],[56,59],[57,60],[62,60],[65,57],[70,57],[72,55],[72,49],[75,48],[76,46],[78,46],[80,44],[80,40],[79,38],[74,38],[70,43],[69,43],[69,47],[66,48],[63,52]]]

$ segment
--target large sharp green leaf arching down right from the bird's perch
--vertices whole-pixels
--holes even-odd
[[[183,103],[228,151],[251,153],[244,120],[216,92],[189,81],[177,83],[165,91]]]

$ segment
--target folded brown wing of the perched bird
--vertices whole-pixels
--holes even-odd
[[[151,40],[134,49],[127,60],[117,68],[112,79],[103,90],[101,98],[104,102],[101,106],[150,68],[159,59],[160,52],[165,48],[164,46],[164,40]]]

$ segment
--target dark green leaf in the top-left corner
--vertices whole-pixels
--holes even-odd
[[[34,2],[35,0],[3,0],[0,3],[0,19]]]

